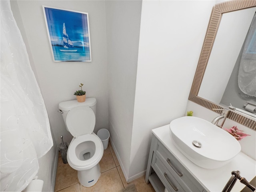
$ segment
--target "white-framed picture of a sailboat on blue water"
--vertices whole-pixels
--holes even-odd
[[[43,6],[55,62],[92,61],[88,13]]]

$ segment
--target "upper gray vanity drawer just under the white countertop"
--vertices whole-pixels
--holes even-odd
[[[172,176],[186,192],[202,192],[204,188],[194,177],[178,162],[178,160],[160,143],[156,148],[156,156],[162,161]]]

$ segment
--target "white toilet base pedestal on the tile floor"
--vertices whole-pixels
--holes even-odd
[[[96,166],[88,170],[77,171],[77,176],[82,186],[93,186],[100,178],[100,164],[98,163]]]

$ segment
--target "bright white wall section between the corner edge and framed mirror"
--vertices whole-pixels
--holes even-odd
[[[146,170],[151,130],[184,115],[215,1],[143,1],[129,178]]]

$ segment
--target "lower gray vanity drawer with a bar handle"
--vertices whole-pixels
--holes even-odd
[[[185,192],[156,154],[153,156],[151,166],[155,170],[160,180],[162,180],[164,183],[164,186],[167,188],[168,192]]]

